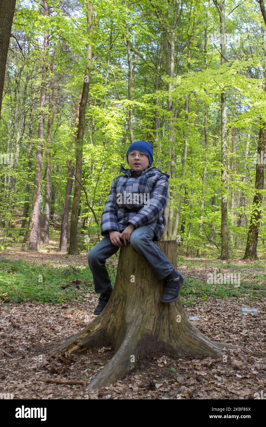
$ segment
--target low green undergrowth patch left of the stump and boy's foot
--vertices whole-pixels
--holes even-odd
[[[90,286],[92,283],[89,266],[56,267],[53,263],[0,260],[0,298],[5,303],[31,300],[65,304],[73,300],[83,301],[82,296],[94,290]],[[67,284],[69,286],[65,287]]]

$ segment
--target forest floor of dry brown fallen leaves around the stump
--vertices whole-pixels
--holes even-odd
[[[56,255],[56,256],[55,256]],[[76,256],[46,252],[22,252],[8,248],[3,260],[52,262],[61,266],[87,266],[85,254]],[[112,257],[114,264],[117,258]],[[35,261],[34,261],[35,260]],[[261,289],[260,295],[240,294],[225,298],[197,298],[183,305],[193,325],[213,341],[242,345],[227,350],[227,358],[215,360],[172,357],[158,354],[141,357],[120,381],[99,392],[88,394],[86,383],[102,369],[113,355],[112,348],[99,348],[83,354],[47,356],[49,342],[70,336],[88,325],[98,303],[92,291],[82,295],[82,302],[40,304],[23,301],[0,307],[0,392],[12,393],[14,399],[254,399],[266,392],[266,263],[231,260],[230,264],[206,258],[185,258],[178,266],[184,277],[206,282],[210,266],[234,266],[246,278],[245,286]],[[264,271],[263,271],[264,266]],[[185,287],[185,286],[184,286]],[[183,287],[183,288],[184,288]],[[181,290],[181,302],[188,298]],[[256,288],[254,288],[256,289]],[[264,292],[263,292],[264,291]],[[4,301],[3,301],[4,302]],[[241,308],[260,312],[243,314]],[[55,345],[56,346],[56,345]],[[170,369],[174,368],[174,369]],[[170,370],[169,370],[170,369]],[[44,382],[39,381],[39,379]],[[84,384],[49,383],[47,380],[81,381]]]

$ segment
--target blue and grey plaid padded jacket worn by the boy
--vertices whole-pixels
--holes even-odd
[[[134,171],[125,169],[122,164],[120,172],[124,175],[119,175],[113,179],[102,212],[102,236],[108,237],[108,230],[116,230],[122,233],[129,224],[133,224],[134,228],[149,224],[155,233],[153,240],[160,240],[166,225],[164,209],[168,203],[168,178],[170,175],[162,173],[156,167]],[[130,204],[130,198],[127,201],[126,197],[119,199],[119,193],[124,196],[131,194],[132,204]],[[134,200],[134,193],[149,195],[149,205],[148,203],[133,203],[141,201],[140,199]],[[146,200],[143,199],[143,202]]]

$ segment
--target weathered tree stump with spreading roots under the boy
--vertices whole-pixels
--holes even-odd
[[[154,243],[177,268],[176,241]],[[79,333],[59,340],[60,346],[50,354],[114,348],[112,359],[88,384],[88,391],[93,391],[119,380],[135,366],[140,354],[217,359],[224,355],[222,348],[238,348],[210,341],[187,319],[179,297],[172,303],[161,302],[163,289],[164,280],[158,280],[146,259],[130,244],[121,246],[114,290],[106,307]]]

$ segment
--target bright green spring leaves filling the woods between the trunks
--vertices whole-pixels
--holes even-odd
[[[220,40],[217,39],[220,20],[213,2],[179,2],[173,78],[168,75],[167,52],[170,53],[168,37],[173,29],[175,1],[93,2],[92,40],[87,29],[86,2],[73,0],[63,6],[56,0],[48,1],[48,6],[49,14],[45,16],[38,2],[17,0],[16,4],[12,34],[19,45],[12,37],[1,111],[3,120],[0,121],[0,153],[14,155],[13,167],[0,164],[0,225],[3,234],[12,237],[12,228],[18,225],[16,222],[21,224],[25,202],[29,201],[30,206],[32,203],[43,79],[45,137],[52,83],[54,120],[50,147],[43,159],[41,216],[45,213],[44,173],[48,160],[53,193],[50,210],[59,219],[62,216],[67,161],[76,164],[74,122],[90,42],[93,56],[82,147],[80,202],[81,217],[86,218],[90,238],[94,233],[90,227],[98,227],[95,235],[96,232],[99,235],[101,213],[112,179],[119,175],[121,163],[127,166],[126,151],[130,143],[127,121],[132,109],[134,140],[147,139],[153,144],[153,166],[169,172],[169,162],[172,162],[168,207],[176,214],[178,196],[181,198],[177,235],[181,235],[181,222],[184,232],[180,252],[184,255],[187,249],[188,254],[194,255],[200,248],[204,256],[218,255],[221,199],[224,196],[221,187],[220,99],[221,92],[225,91],[229,253],[231,257],[243,256],[251,213],[254,212],[254,159],[258,154],[260,119],[266,120],[266,94],[263,91],[265,24],[257,1],[239,3],[237,8],[232,0],[225,3],[226,61],[223,65]],[[49,35],[45,63],[44,34]],[[168,41],[164,39],[166,35]],[[191,55],[188,58],[190,36]],[[132,60],[131,101],[126,41],[129,41]],[[173,110],[168,105],[169,99],[172,99]],[[185,111],[186,99],[188,113]],[[207,151],[205,107],[208,108]],[[185,147],[186,161],[183,160]],[[205,167],[206,183],[203,184]],[[13,190],[12,183],[15,183]],[[201,218],[203,189],[204,214]],[[266,190],[260,193],[263,202],[259,235],[264,236]],[[72,202],[73,192],[70,208]],[[199,232],[201,225],[202,231]],[[7,239],[1,240],[0,248],[6,247]],[[15,240],[19,238],[15,237]],[[85,242],[86,250],[90,245]],[[259,238],[257,249],[259,256],[265,258],[263,238]]]

